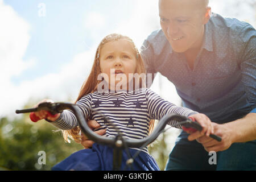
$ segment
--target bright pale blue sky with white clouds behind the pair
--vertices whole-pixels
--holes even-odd
[[[255,0],[210,0],[213,13],[255,27]],[[75,100],[104,36],[129,36],[138,48],[160,28],[157,0],[0,0],[0,118],[28,102]],[[152,87],[180,105],[174,85],[158,75]],[[32,103],[31,103],[32,102]]]

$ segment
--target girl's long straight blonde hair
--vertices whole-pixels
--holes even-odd
[[[129,37],[121,35],[121,34],[107,35],[107,36],[105,36],[104,39],[101,40],[101,42],[97,48],[97,51],[96,51],[96,54],[94,57],[93,66],[92,66],[92,71],[90,72],[90,75],[88,76],[88,78],[82,84],[79,96],[77,97],[75,103],[77,101],[79,101],[86,94],[95,92],[97,90],[98,84],[101,82],[101,80],[97,80],[97,76],[101,73],[100,52],[101,52],[102,47],[108,42],[114,42],[114,41],[118,41],[121,39],[126,39],[133,46],[134,53],[137,57],[137,65],[136,65],[135,73],[138,73],[138,74],[146,73],[146,69],[144,67],[142,56],[139,53],[137,47],[135,46],[133,40],[131,40]],[[140,80],[139,84],[140,84],[139,88],[142,88],[145,86],[144,81],[142,81],[142,80]],[[136,87],[134,86],[134,88],[136,88]],[[86,120],[88,120],[88,118],[86,118]],[[152,126],[154,126],[154,121],[151,120],[150,121],[150,132],[152,131]],[[81,143],[82,137],[81,137],[81,129],[79,126],[73,128],[71,130],[61,130],[61,131],[63,132],[63,137],[66,142],[69,142],[69,138],[71,138],[71,139],[75,140],[75,142]]]

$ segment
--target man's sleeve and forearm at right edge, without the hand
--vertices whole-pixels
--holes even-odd
[[[242,83],[251,111],[242,119],[226,123],[226,127],[233,130],[233,143],[256,139],[256,30],[248,24],[241,31],[240,39],[245,50],[241,63]]]

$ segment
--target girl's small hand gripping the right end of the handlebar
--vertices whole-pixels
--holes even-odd
[[[188,136],[188,140],[192,141],[199,137],[202,137],[203,135],[207,135],[209,137],[210,134],[214,134],[214,128],[212,125],[212,122],[205,114],[193,114],[190,117],[194,118],[196,122],[198,122],[203,129],[201,131],[196,131],[194,133],[188,132],[190,135]]]

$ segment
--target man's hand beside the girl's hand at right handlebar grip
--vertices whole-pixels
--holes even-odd
[[[214,127],[214,134],[220,136],[222,138],[221,142],[218,142],[217,140],[214,140],[206,135],[202,137],[197,137],[199,134],[197,134],[198,131],[195,133],[189,135],[188,140],[194,140],[196,139],[197,142],[201,143],[205,150],[210,152],[210,151],[223,151],[228,149],[231,144],[233,143],[233,138],[232,138],[232,130],[229,129],[229,127],[226,127],[224,125],[220,125],[217,123],[212,123]]]

